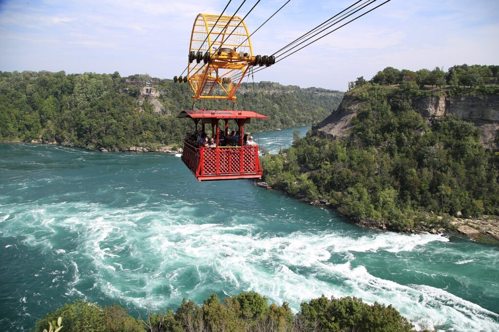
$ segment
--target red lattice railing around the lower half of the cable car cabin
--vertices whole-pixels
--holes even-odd
[[[182,161],[200,181],[261,177],[257,146],[196,148],[185,142]]]

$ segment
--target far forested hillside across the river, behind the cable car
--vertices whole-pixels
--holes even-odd
[[[129,80],[151,80],[133,75]],[[139,105],[139,86],[113,74],[0,72],[0,142],[45,142],[88,149],[123,150],[130,146],[178,145],[191,123],[177,119],[192,108],[188,84],[153,79],[165,108],[155,113],[147,98]],[[260,82],[243,84],[239,109],[269,116],[248,131],[313,124],[338,106],[343,93]],[[197,108],[232,108],[230,102],[197,102]]]

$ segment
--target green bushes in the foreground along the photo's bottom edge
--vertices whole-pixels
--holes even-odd
[[[357,298],[322,296],[303,302],[301,310],[293,315],[287,303],[269,306],[257,293],[241,293],[226,298],[224,303],[212,294],[203,306],[184,299],[175,313],[149,314],[144,321],[129,316],[118,305],[102,308],[76,300],[37,321],[35,331],[42,332],[46,322],[56,317],[64,320],[64,332],[404,332],[413,328],[392,306],[370,306]]]

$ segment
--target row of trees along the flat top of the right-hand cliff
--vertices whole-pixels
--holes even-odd
[[[433,70],[420,69],[417,71],[407,69],[396,69],[393,67],[386,67],[378,71],[376,75],[371,78],[370,83],[380,85],[401,84],[403,82],[414,82],[420,88],[425,85],[431,87],[444,87],[449,85],[454,88],[468,87],[484,89],[486,85],[498,84],[499,81],[499,65],[455,65],[444,71],[439,67]],[[349,89],[353,89],[367,83],[363,76],[358,77],[355,81],[349,83]],[[498,89],[493,89],[497,92]],[[491,93],[491,91],[484,91]]]

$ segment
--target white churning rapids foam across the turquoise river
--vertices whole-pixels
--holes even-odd
[[[152,310],[178,305],[182,297],[200,301],[219,290],[226,294],[255,291],[276,303],[288,302],[294,311],[302,301],[322,294],[356,296],[368,303],[392,304],[425,326],[456,331],[497,327],[496,314],[444,290],[400,285],[353,265],[358,253],[424,251],[431,242],[449,241],[442,235],[294,231],[276,236],[257,226],[263,217],[251,224],[244,223],[241,215],[231,223],[195,223],[199,208],[178,203],[158,206],[156,211],[50,204],[15,211],[3,232],[47,249],[60,233],[74,234],[70,236],[73,250],[54,250],[72,266],[68,295],[87,297],[87,279],[106,297]],[[78,212],[69,215],[66,209]],[[19,227],[16,219],[32,222]],[[332,259],[338,254],[339,262]],[[89,265],[87,272],[80,271],[80,264]]]

